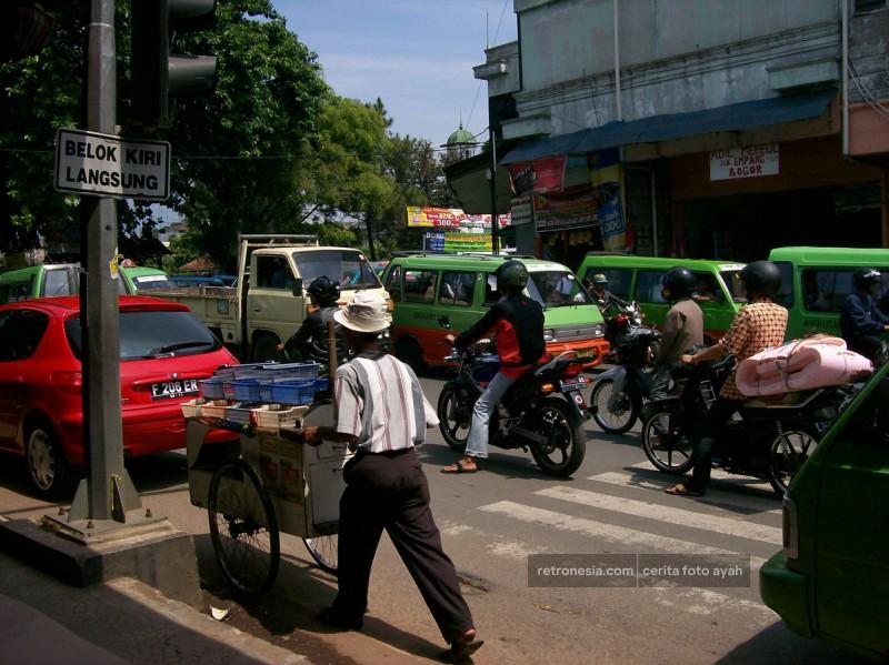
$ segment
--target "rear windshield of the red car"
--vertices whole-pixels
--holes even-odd
[[[66,321],[64,331],[71,351],[80,357],[80,319]],[[124,310],[120,313],[120,360],[193,355],[220,346],[219,340],[191,312]]]

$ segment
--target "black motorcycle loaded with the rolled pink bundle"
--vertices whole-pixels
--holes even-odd
[[[669,474],[691,468],[693,441],[735,364],[727,356],[683,367],[678,371],[686,374],[679,382],[681,392],[645,406],[642,449],[656,468]],[[746,401],[713,444],[713,467],[768,481],[783,496],[859,389],[860,384],[836,385],[791,392],[780,400]]]

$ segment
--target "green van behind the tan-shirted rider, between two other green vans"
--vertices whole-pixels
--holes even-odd
[[[611,293],[638,302],[646,323],[660,326],[670,309],[661,298],[660,282],[663,274],[676,265],[688,268],[698,279],[695,300],[703,312],[705,340],[712,344],[729,329],[735,314],[747,302],[735,291],[735,275],[745,266],[743,263],[589,252],[577,273],[585,282],[597,273],[605,274]]]

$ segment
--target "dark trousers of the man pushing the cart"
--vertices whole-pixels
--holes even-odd
[[[343,473],[339,593],[333,608],[348,618],[367,612],[370,568],[386,528],[441,635],[452,643],[473,627],[472,615],[460,593],[453,563],[441,548],[441,535],[429,508],[429,485],[417,453],[413,449],[358,453]]]

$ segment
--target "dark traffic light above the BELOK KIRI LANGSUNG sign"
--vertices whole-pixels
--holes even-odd
[[[132,0],[132,120],[169,124],[170,95],[213,87],[216,58],[170,54],[178,34],[213,26],[216,0]]]

